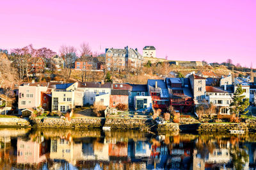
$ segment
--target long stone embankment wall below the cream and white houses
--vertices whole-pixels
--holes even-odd
[[[34,127],[52,128],[100,128],[104,118],[72,118],[71,121],[65,118],[31,118],[31,125]]]

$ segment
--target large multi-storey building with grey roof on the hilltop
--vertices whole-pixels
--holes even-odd
[[[124,69],[125,67],[143,67],[143,56],[135,50],[125,46],[124,49],[106,48],[106,68]]]

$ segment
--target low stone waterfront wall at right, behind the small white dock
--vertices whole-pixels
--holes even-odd
[[[241,127],[241,128],[240,128]],[[229,132],[230,130],[243,130],[248,132],[246,124],[200,124],[199,132]]]

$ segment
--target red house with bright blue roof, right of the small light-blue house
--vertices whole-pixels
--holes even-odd
[[[170,96],[164,80],[148,80],[147,86],[153,108],[168,108]]]

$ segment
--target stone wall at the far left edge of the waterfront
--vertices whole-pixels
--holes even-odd
[[[0,127],[29,127],[29,121],[24,118],[0,118]]]

